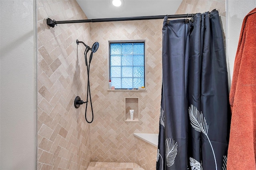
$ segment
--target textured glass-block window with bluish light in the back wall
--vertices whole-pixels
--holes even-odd
[[[144,42],[110,43],[110,79],[115,89],[145,86]]]

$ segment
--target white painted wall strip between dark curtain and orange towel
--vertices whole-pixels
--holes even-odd
[[[256,1],[228,0],[227,5],[227,63],[231,85],[242,22],[246,14],[256,8]]]

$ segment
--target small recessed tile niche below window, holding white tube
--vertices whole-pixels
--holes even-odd
[[[130,110],[134,110],[133,120],[130,119]],[[125,122],[139,121],[139,98],[127,97],[125,98]]]

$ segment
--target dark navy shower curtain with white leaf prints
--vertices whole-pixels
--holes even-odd
[[[218,11],[163,23],[157,170],[226,170],[228,74]]]

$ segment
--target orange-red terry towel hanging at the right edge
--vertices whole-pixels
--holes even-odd
[[[227,170],[256,170],[256,8],[242,24],[230,89]]]

